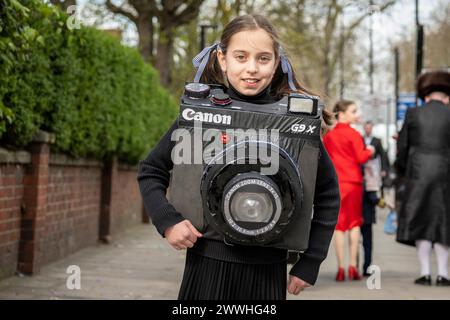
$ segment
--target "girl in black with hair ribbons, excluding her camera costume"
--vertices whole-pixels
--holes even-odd
[[[280,52],[273,26],[260,15],[245,15],[224,29],[219,45],[202,51],[196,80],[221,84],[232,99],[273,103],[292,91],[307,91]],[[197,60],[198,62],[198,59]],[[283,73],[287,72],[287,74]],[[325,113],[325,120],[329,115]],[[138,181],[144,204],[159,233],[177,250],[187,249],[179,299],[286,299],[316,282],[337,221],[339,190],[333,165],[321,144],[309,248],[290,271],[287,250],[228,245],[206,239],[166,199],[173,168],[171,133],[175,122],[140,163]]]

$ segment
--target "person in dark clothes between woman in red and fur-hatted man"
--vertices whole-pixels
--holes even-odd
[[[363,220],[361,235],[363,238],[364,264],[363,275],[369,276],[367,269],[372,264],[372,224],[376,223],[376,206],[379,202],[378,193],[383,187],[383,179],[389,172],[389,160],[383,149],[381,140],[372,136],[373,123],[364,123],[364,142],[375,148],[373,159],[364,164],[364,195]]]

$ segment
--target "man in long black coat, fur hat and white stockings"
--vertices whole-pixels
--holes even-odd
[[[436,285],[450,286],[450,73],[423,74],[417,92],[425,105],[408,110],[397,141],[396,167],[405,181],[397,241],[417,247],[421,277],[416,284],[431,285],[434,247]]]

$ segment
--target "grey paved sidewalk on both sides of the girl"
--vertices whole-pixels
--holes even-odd
[[[386,215],[380,211],[374,225],[376,266],[370,278],[335,282],[337,264],[332,244],[316,285],[298,296],[288,294],[288,300],[450,299],[450,287],[413,284],[419,273],[416,250],[383,233]],[[0,299],[176,299],[184,258],[185,252],[172,249],[152,225],[139,225],[122,232],[110,244],[97,244],[46,265],[36,275],[17,274],[0,281]],[[434,254],[432,272],[435,278]]]

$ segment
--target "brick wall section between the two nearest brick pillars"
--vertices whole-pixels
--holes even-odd
[[[50,163],[42,239],[44,264],[97,242],[101,170],[101,166]]]

